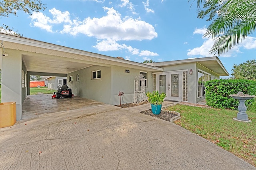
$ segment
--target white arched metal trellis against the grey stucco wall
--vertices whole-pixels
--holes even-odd
[[[142,74],[139,74],[134,79],[134,103],[146,101],[146,80]]]

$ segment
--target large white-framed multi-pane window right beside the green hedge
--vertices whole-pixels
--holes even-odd
[[[205,82],[211,80],[211,75],[198,70],[198,96],[203,97],[205,96]]]

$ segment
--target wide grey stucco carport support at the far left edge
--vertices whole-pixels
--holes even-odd
[[[20,53],[9,52],[2,57],[1,102],[16,102],[16,120],[22,116],[22,59]]]

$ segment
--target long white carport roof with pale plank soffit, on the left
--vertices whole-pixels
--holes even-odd
[[[0,40],[3,41],[1,45],[4,46],[5,53],[8,53],[8,49],[22,51],[22,60],[30,72],[68,74],[92,65],[117,65],[145,71],[163,71],[160,67],[11,34],[0,33]]]

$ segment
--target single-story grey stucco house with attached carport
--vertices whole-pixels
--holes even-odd
[[[120,103],[120,91],[123,102],[134,101],[139,74],[145,79],[146,92],[158,90],[168,100],[189,103],[205,98],[205,81],[229,75],[218,57],[144,64],[4,33],[0,41],[2,102],[16,102],[17,120],[30,95],[30,75],[67,77],[74,95],[111,105]]]

